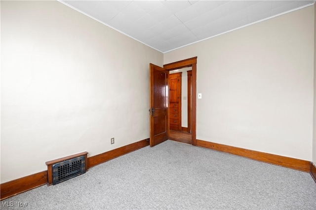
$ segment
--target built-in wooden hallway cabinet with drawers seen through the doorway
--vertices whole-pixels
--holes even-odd
[[[181,79],[182,72],[169,74],[170,130],[181,131]]]

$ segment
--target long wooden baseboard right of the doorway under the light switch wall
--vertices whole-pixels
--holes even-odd
[[[221,152],[226,152],[265,163],[271,163],[274,165],[283,166],[286,168],[295,169],[303,172],[311,171],[311,162],[306,160],[274,155],[270,153],[259,152],[255,150],[249,150],[225,144],[213,143],[204,140],[197,140],[197,146]]]

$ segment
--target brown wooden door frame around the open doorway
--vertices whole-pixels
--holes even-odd
[[[197,145],[197,57],[163,65],[165,70],[177,70],[192,67],[192,115],[191,115],[191,134],[192,145]]]

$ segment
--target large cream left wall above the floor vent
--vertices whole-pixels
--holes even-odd
[[[149,63],[162,53],[58,1],[1,1],[1,183],[149,138]]]

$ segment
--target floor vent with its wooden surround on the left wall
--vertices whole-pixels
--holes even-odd
[[[48,167],[48,185],[55,185],[84,174],[87,170],[86,164],[87,152],[46,162]]]

